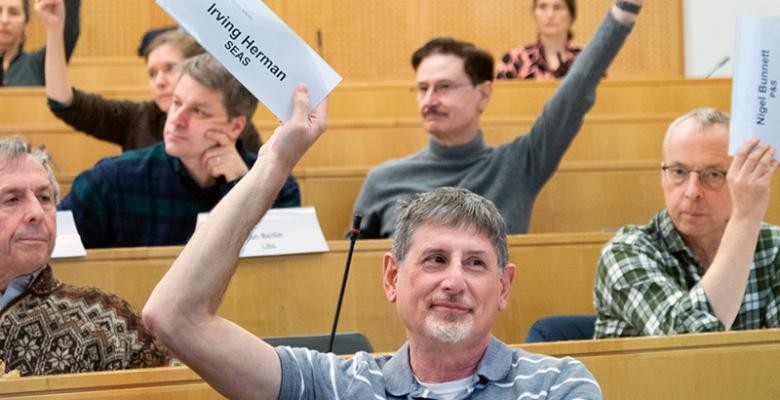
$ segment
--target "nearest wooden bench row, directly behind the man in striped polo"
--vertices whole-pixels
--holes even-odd
[[[780,330],[513,345],[574,356],[605,399],[777,399]],[[219,399],[186,367],[0,382],[0,399]]]

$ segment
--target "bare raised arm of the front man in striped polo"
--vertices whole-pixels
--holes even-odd
[[[276,398],[279,393],[275,350],[216,312],[247,236],[295,163],[325,131],[325,102],[307,115],[303,86],[296,89],[294,102],[292,119],[276,129],[252,169],[195,231],[143,311],[146,325],[172,352],[228,398]]]

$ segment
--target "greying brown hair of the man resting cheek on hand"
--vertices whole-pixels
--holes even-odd
[[[222,105],[228,117],[245,116],[247,124],[257,109],[257,98],[238,79],[228,72],[214,56],[208,53],[190,57],[181,66],[182,76],[187,75],[201,85],[222,93]]]

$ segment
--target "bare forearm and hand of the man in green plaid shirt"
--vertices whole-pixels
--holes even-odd
[[[737,151],[726,175],[731,218],[701,285],[715,315],[727,330],[744,300],[776,166],[774,147],[753,139]]]

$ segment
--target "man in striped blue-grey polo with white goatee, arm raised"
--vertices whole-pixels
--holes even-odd
[[[239,251],[295,163],[325,129],[298,89],[293,120],[260,148],[250,172],[214,208],[152,292],[144,322],[231,399],[597,399],[571,358],[511,349],[490,334],[509,300],[515,266],[495,206],[440,188],[401,205],[383,286],[408,342],[395,355],[344,359],[271,347],[216,315]]]

